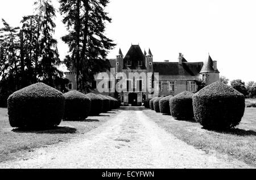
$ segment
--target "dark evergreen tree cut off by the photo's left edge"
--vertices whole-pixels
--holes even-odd
[[[0,106],[6,107],[8,96],[21,87],[19,28],[2,19],[0,29]]]

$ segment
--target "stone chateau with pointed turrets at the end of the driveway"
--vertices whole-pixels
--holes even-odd
[[[141,72],[159,73],[158,81],[150,80],[150,83],[158,88],[158,93],[142,92],[141,79],[127,80],[127,91],[129,90],[129,92],[103,93],[119,98],[125,105],[141,105],[142,101],[146,98],[154,98],[159,95],[175,96],[183,91],[196,92],[198,88],[197,82],[200,80],[203,80],[206,85],[220,80],[217,61],[213,61],[210,55],[205,62],[188,62],[181,53],[179,53],[177,62],[154,62],[150,49],[148,52],[144,51],[143,53],[139,45],[131,45],[125,56],[123,56],[121,49],[119,49],[115,59],[105,59],[105,62],[109,67],[108,74],[110,74],[110,68],[114,68],[115,73],[123,72],[127,77],[129,72],[138,72],[138,74],[141,74]],[[68,89],[76,89],[75,72],[66,72],[65,76],[70,81]],[[92,84],[93,88],[95,88],[93,92],[99,93],[96,87],[102,81],[102,78],[98,78],[98,75],[95,75],[95,80],[96,82]],[[114,79],[109,80],[117,82],[118,78],[115,79],[114,77]],[[139,91],[135,91],[137,84],[139,85]]]

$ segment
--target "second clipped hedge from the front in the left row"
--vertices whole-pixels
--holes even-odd
[[[69,91],[64,94],[64,97],[64,121],[82,121],[89,116],[91,102],[83,93],[76,90]]]

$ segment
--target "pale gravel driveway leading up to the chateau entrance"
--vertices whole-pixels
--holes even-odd
[[[0,168],[251,168],[217,158],[176,139],[141,108],[122,108],[104,125],[72,139],[0,164]]]

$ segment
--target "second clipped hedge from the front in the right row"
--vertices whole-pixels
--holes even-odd
[[[178,120],[191,120],[193,114],[193,93],[184,91],[170,98],[170,112]]]

